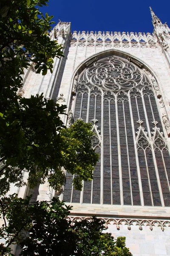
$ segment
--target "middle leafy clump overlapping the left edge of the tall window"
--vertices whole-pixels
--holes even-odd
[[[49,184],[59,189],[65,180],[62,166],[76,174],[77,189],[82,180],[92,179],[98,154],[91,147],[91,125],[77,120],[66,129],[59,117],[65,108],[37,95],[20,98],[15,109],[0,117],[1,194],[11,182],[21,185],[22,170],[29,172],[31,187],[48,178]]]

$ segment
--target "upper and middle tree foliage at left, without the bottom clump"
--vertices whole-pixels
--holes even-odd
[[[0,194],[10,183],[23,184],[23,170],[29,172],[31,187],[45,178],[54,189],[65,180],[61,171],[76,174],[75,188],[91,180],[98,155],[91,148],[91,125],[78,121],[66,129],[59,106],[43,96],[30,99],[17,95],[24,68],[33,61],[37,73],[52,72],[53,58],[63,56],[62,46],[51,41],[51,21],[39,6],[45,0],[2,0],[0,3]]]

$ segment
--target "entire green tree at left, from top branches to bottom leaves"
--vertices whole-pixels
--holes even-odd
[[[23,86],[24,69],[32,62],[37,73],[45,75],[47,70],[52,72],[54,57],[63,56],[62,46],[49,38],[52,16],[43,17],[39,11],[47,2],[0,1],[1,195],[10,189],[10,183],[23,185],[23,171],[29,172],[29,186],[34,187],[47,178],[50,186],[59,189],[65,179],[62,167],[75,174],[74,186],[81,189],[82,180],[93,178],[98,160],[91,147],[90,124],[78,120],[67,129],[59,118],[65,113],[65,106],[42,95],[30,99],[17,95]],[[23,256],[131,255],[125,247],[125,238],[115,243],[110,234],[102,233],[103,222],[97,218],[72,226],[65,219],[70,209],[55,198],[35,204],[30,204],[30,197],[1,198],[4,224],[0,237],[6,239],[6,244],[0,244],[0,255],[8,255],[11,244],[19,244]],[[119,254],[113,254],[116,250]]]

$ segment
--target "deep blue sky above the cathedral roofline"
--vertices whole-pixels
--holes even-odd
[[[161,5],[162,3],[162,5]],[[71,31],[153,32],[149,6],[170,27],[170,0],[49,0],[43,14],[71,22]]]

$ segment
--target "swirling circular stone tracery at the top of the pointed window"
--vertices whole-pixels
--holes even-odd
[[[130,90],[151,85],[147,76],[133,63],[116,56],[100,59],[79,76],[79,84],[97,85],[104,90]]]

